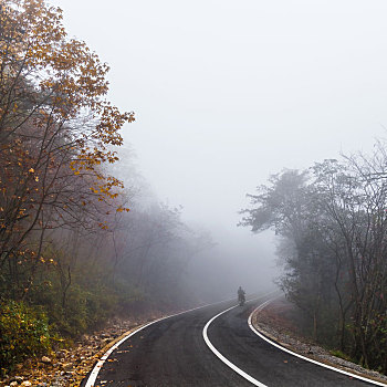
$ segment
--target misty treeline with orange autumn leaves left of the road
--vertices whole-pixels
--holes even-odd
[[[208,244],[109,175],[134,114],[61,19],[42,0],[0,4],[1,373],[112,314],[192,301],[181,275]]]

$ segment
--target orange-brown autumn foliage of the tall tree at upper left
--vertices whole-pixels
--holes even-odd
[[[102,213],[127,210],[103,165],[117,160],[112,149],[134,115],[106,100],[108,66],[42,0],[1,3],[0,264],[19,296],[29,283],[18,283],[18,268],[51,259],[49,230],[107,228]]]

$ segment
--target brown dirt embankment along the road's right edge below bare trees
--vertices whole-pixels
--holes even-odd
[[[333,356],[327,349],[305,337],[300,313],[296,306],[285,297],[276,299],[263,310],[255,312],[252,323],[262,334],[290,351],[336,368],[386,383],[387,386],[387,376]]]

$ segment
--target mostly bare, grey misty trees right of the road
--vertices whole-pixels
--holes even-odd
[[[281,236],[280,280],[311,335],[387,373],[387,151],[283,170],[249,195],[242,224]]]

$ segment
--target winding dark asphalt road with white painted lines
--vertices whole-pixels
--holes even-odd
[[[95,387],[373,385],[286,354],[257,336],[248,325],[248,317],[266,300],[268,296],[262,296],[243,307],[233,307],[215,318],[207,330],[213,347],[259,384],[236,373],[203,339],[206,324],[236,302],[197,308],[145,327],[123,342],[101,367],[96,380],[88,384]]]

